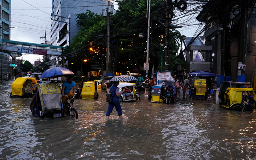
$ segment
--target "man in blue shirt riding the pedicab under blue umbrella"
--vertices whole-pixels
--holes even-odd
[[[72,88],[73,88],[74,94],[70,92]],[[67,97],[65,97],[65,95],[68,96],[69,98],[72,98],[74,95],[76,95],[76,86],[75,86],[75,82],[73,81],[73,76],[68,76],[68,80],[63,82],[61,94],[62,94],[62,103],[67,101]],[[72,106],[73,106],[74,100],[75,100],[74,98],[71,100]]]

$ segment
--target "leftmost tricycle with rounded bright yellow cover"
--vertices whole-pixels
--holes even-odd
[[[10,98],[32,98],[35,93],[36,78],[19,77],[12,82]]]

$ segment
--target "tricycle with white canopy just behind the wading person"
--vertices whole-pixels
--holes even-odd
[[[120,92],[122,91],[123,88],[126,89],[126,91],[119,96],[119,101],[120,102],[128,102],[128,101],[136,101],[140,100],[140,96],[136,94],[136,89],[134,88],[134,83],[120,83],[118,86],[120,88]]]

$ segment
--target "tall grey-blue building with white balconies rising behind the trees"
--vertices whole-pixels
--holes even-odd
[[[52,14],[58,16],[52,16],[50,44],[53,46],[68,46],[80,30],[80,27],[76,25],[76,14],[85,13],[86,10],[101,14],[102,10],[107,8],[107,3],[103,0],[53,0]]]

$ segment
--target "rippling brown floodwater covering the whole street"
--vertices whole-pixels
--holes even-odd
[[[109,120],[105,94],[78,100],[77,120],[33,117],[31,98],[9,98],[12,81],[0,85],[1,160],[254,160],[256,116],[208,100],[177,104],[122,102],[124,118]]]

